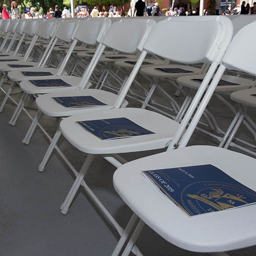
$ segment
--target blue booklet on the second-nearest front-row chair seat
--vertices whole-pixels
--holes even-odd
[[[78,121],[76,123],[102,140],[155,134],[125,117]]]

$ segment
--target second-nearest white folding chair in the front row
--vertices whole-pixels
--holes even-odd
[[[116,26],[120,26],[120,24]],[[136,24],[136,26],[138,25]],[[119,109],[119,108],[147,52],[156,53],[154,50],[155,45],[160,44],[160,42],[162,44],[162,41],[159,35],[163,31],[165,31],[167,28],[178,27],[179,29],[182,30],[182,29],[185,29],[187,26],[197,27],[197,30],[196,30],[197,35],[193,37],[188,37],[190,39],[189,39],[189,42],[187,42],[187,44],[195,45],[195,52],[193,53],[185,52],[182,55],[182,62],[191,63],[191,62],[200,62],[204,60],[204,61],[209,61],[211,63],[211,67],[207,72],[207,75],[205,76],[202,86],[198,91],[193,101],[193,104],[191,104],[191,108],[189,109],[185,122],[187,123],[188,120],[190,119],[191,113],[195,111],[196,105],[199,102],[200,98],[202,97],[203,92],[212,74],[217,68],[225,52],[225,49],[228,46],[229,41],[231,39],[232,25],[230,22],[228,22],[227,18],[225,17],[217,17],[217,18],[216,17],[207,17],[207,18],[206,17],[190,17],[190,18],[186,17],[186,19],[184,19],[183,17],[180,17],[180,19],[173,20],[172,18],[170,18],[170,19],[166,19],[164,22],[159,23],[158,25],[156,25],[154,31],[151,31],[150,38],[146,41],[146,44],[138,59],[138,62],[135,65],[130,77],[127,79],[126,83],[124,84],[122,91],[119,94],[116,103],[114,104],[114,108],[112,110],[102,110],[102,109],[88,110],[85,114],[72,116],[61,121],[60,131],[58,131],[55,134],[53,142],[51,143],[49,150],[46,154],[46,158],[49,157],[49,152],[53,150],[61,133],[79,150],[89,154],[86,162],[83,164],[83,167],[81,168],[80,173],[77,176],[75,183],[73,184],[70,190],[69,195],[67,196],[65,202],[63,202],[63,204],[61,205],[61,211],[63,214],[67,213],[69,206],[80,185],[86,186],[89,194],[91,196],[93,195],[90,188],[88,188],[88,186],[84,183],[83,178],[88,168],[90,167],[90,163],[93,160],[95,154],[103,155],[103,157],[106,160],[110,161],[112,164],[118,167],[125,161],[121,157],[116,155],[117,153],[136,152],[136,151],[153,150],[156,148],[163,148],[168,145],[168,141],[172,140],[173,135],[175,134],[175,132],[179,127],[178,123],[154,112],[150,112],[142,109]],[[207,27],[207,30],[206,30],[206,27]],[[126,27],[125,32],[128,31],[128,28],[134,31],[134,28],[130,25],[130,27],[128,26]],[[190,31],[192,33],[192,30]],[[202,31],[204,31],[204,33],[202,33]],[[136,34],[134,36],[136,36]],[[199,45],[198,45],[198,38],[200,39]],[[107,33],[105,38],[102,41],[102,44],[103,46],[111,46],[112,48],[116,48],[117,50],[127,52],[127,50],[125,51],[125,49],[122,49],[121,46],[123,45],[122,47],[130,47],[130,48],[131,46],[130,45],[124,46],[124,42],[125,40],[113,42],[112,34]],[[177,61],[178,59],[180,60],[181,57],[178,54],[179,51],[177,51],[176,54],[169,53],[167,56],[166,56],[166,53],[168,52],[167,50],[169,49],[169,47],[170,48],[174,47],[178,49],[182,47],[181,42],[183,42],[183,45],[184,45],[185,40],[182,36],[179,38],[176,38],[175,40],[166,40],[165,44],[162,44],[162,47],[157,50],[157,54],[159,56],[167,57],[174,61]],[[220,44],[220,42],[222,43]],[[140,49],[142,50],[142,45],[140,45]],[[42,110],[42,108],[44,109],[46,108],[46,105],[49,104],[50,102],[49,100],[51,96],[53,97],[53,96],[59,96],[59,95],[60,94],[52,94],[52,95],[49,94],[49,95],[38,97],[37,98],[38,105],[39,105],[39,102],[41,101],[40,109]],[[87,133],[86,131],[81,130],[80,127],[75,125],[75,121],[77,120],[104,119],[104,118],[115,118],[115,117],[127,117],[135,121],[139,125],[146,127],[146,129],[154,131],[155,134],[148,137],[142,136],[142,137],[130,138],[129,140],[119,139],[114,141],[113,140],[100,141],[93,135]],[[151,120],[154,120],[155,122],[152,123]],[[162,125],[159,125],[159,124],[162,124]],[[184,125],[182,129],[184,131],[185,129]],[[40,165],[40,167],[42,167],[42,165]],[[95,196],[93,195],[93,197]],[[95,200],[97,201],[97,199]],[[109,216],[109,213],[108,212],[106,213],[106,209],[101,204],[99,205],[99,207],[105,212],[105,214]]]

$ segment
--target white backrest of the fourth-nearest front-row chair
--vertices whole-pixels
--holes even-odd
[[[88,45],[100,42],[111,25],[110,18],[88,18],[80,20],[74,38]],[[92,29],[93,28],[93,29]]]

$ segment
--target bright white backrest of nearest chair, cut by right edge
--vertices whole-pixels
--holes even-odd
[[[239,30],[233,37],[222,60],[222,64],[227,69],[244,71],[256,75],[256,52],[253,50],[253,46],[256,44],[255,31],[256,22],[253,22]]]

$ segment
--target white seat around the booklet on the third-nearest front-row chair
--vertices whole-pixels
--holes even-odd
[[[97,100],[107,104],[104,106],[90,106],[79,108],[65,108],[65,106],[57,103],[53,97],[67,97],[67,96],[93,96]],[[48,116],[73,116],[84,111],[92,110],[95,108],[111,109],[117,100],[117,95],[111,92],[96,89],[74,90],[58,93],[50,93],[41,95],[36,99],[37,108]],[[128,102],[124,100],[123,106]]]

